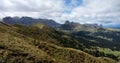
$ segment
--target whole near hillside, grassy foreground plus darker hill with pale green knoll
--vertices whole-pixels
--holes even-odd
[[[27,27],[0,22],[2,63],[116,63],[114,58],[83,52],[94,51],[94,45],[92,41],[78,39],[43,24]]]

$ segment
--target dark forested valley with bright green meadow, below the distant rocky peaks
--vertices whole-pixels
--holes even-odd
[[[115,29],[96,29],[93,31],[82,30],[79,32],[73,31],[71,32],[74,36],[77,36],[79,39],[83,38],[96,43],[93,47],[99,47],[97,51],[104,53],[106,56],[114,58],[116,60],[120,60],[120,31]],[[93,50],[93,49],[92,49]],[[95,49],[96,50],[96,49]],[[94,50],[93,50],[94,51]],[[88,53],[94,53],[97,51],[90,51]],[[94,54],[93,54],[94,55]],[[111,55],[111,56],[110,56]]]

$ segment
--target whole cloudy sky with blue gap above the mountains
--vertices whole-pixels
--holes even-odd
[[[5,16],[119,25],[120,0],[0,0],[0,17]]]

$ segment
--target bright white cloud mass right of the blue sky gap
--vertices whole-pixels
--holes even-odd
[[[63,18],[80,23],[99,23],[112,21],[120,24],[120,2],[119,0],[83,0],[83,5],[74,8],[71,14],[63,15]]]

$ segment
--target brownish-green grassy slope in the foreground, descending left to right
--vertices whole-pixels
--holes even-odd
[[[38,38],[38,36],[30,29],[28,29],[28,31],[33,33],[32,36],[23,34],[26,33],[25,31],[27,30],[25,30],[26,27],[21,27],[14,27],[0,23],[0,62],[108,63],[109,61],[109,63],[115,63],[112,59],[103,60],[101,58],[93,57],[80,50],[61,47],[63,45],[54,42],[57,40],[49,40],[51,37],[46,35],[44,35],[44,38],[43,36]],[[23,33],[18,31],[22,31]],[[49,29],[46,29],[46,31],[49,31]],[[45,31],[41,33],[45,33]]]

